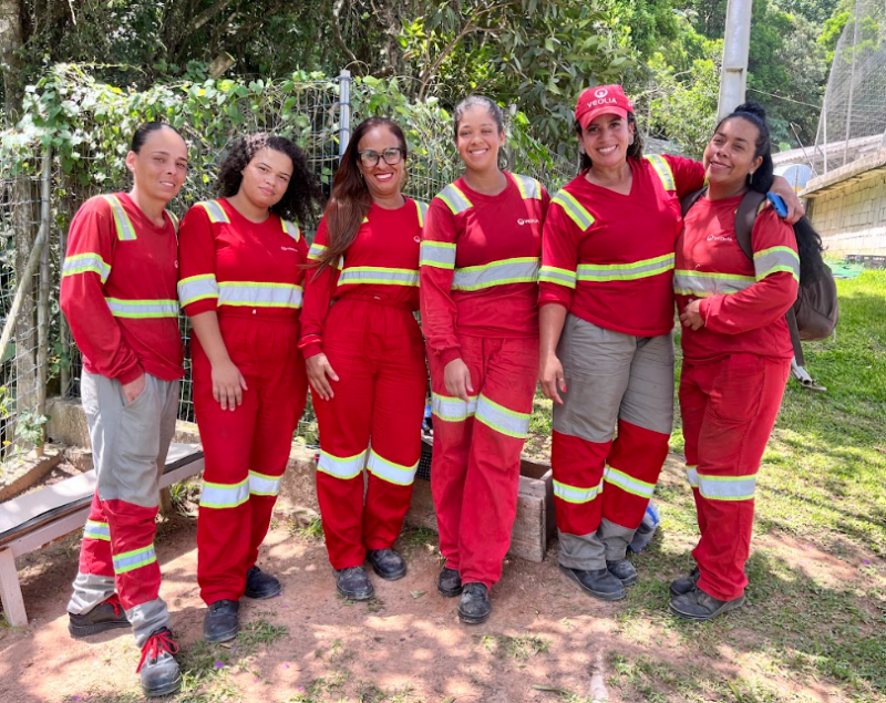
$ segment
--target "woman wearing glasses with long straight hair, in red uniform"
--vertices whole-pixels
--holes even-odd
[[[413,312],[425,206],[400,193],[405,162],[394,122],[358,125],[309,255],[299,348],[320,430],[317,497],[336,586],[352,600],[373,595],[367,559],[383,579],[406,573],[392,547],[421,457],[427,371]]]

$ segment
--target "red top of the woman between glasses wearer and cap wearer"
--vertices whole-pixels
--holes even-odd
[[[538,265],[545,188],[507,175],[496,196],[446,186],[427,209],[422,237],[422,325],[432,353],[459,359],[457,333],[486,338],[538,335]]]

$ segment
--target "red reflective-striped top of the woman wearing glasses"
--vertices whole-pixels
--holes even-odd
[[[338,265],[308,271],[299,342],[306,359],[322,351],[323,325],[333,300],[367,298],[419,309],[419,247],[427,206],[405,200],[394,210],[373,204]],[[318,259],[327,241],[323,218],[308,258]]]

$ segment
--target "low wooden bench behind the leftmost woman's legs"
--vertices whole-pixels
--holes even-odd
[[[203,451],[199,445],[173,444],[159,487],[167,488],[202,471]],[[0,507],[0,596],[9,624],[28,624],[16,557],[82,529],[94,493],[93,469],[8,500]]]

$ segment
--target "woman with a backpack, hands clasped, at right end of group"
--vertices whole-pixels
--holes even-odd
[[[751,231],[753,260],[735,235],[735,210],[749,190],[765,193],[772,156],[765,112],[740,105],[704,149],[708,190],[686,215],[673,286],[683,324],[680,412],[687,475],[701,539],[698,564],[671,585],[670,609],[708,620],[744,601],[756,472],[775,424],[793,350],[785,312],[797,297],[797,257],[821,240],[808,221],[794,229],[774,208]],[[796,232],[796,234],[795,234]],[[808,242],[808,244],[806,244]]]

